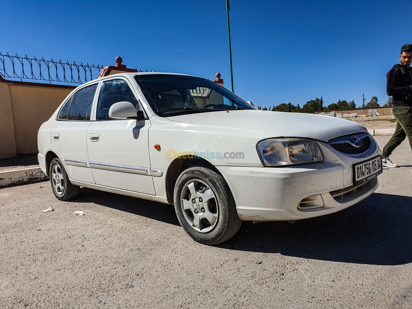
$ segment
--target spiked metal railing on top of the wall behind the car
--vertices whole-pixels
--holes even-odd
[[[92,63],[83,64],[82,62],[70,63],[69,61],[62,62],[45,60],[34,56],[28,58],[27,55],[19,57],[10,55],[8,52],[2,54],[0,52],[0,75],[8,80],[20,81],[46,81],[52,83],[69,83],[69,84],[84,84],[98,77],[103,65]],[[144,72],[142,69],[138,72]],[[147,70],[145,72],[148,72]],[[151,71],[153,72],[153,71]]]

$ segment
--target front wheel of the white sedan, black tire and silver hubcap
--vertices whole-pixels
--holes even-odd
[[[192,165],[180,174],[174,205],[185,232],[206,245],[232,238],[242,223],[229,186],[211,166]]]

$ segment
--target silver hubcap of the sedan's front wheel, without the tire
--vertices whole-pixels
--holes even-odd
[[[181,194],[183,216],[198,232],[210,232],[218,222],[218,200],[212,189],[201,180],[189,180]]]

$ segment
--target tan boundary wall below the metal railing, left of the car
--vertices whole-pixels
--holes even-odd
[[[0,81],[0,158],[37,152],[40,125],[73,88]]]

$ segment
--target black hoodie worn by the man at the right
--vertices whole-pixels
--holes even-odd
[[[412,68],[394,65],[386,74],[386,93],[393,96],[392,105],[412,107]]]

